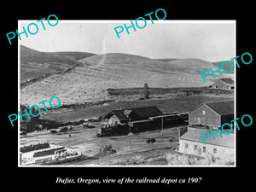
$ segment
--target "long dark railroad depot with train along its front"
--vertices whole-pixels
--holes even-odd
[[[188,113],[163,114],[154,106],[113,110],[103,117],[96,137],[163,130],[177,125],[188,125],[188,119]]]

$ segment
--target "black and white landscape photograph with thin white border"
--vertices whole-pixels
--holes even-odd
[[[236,166],[236,20],[56,19],[18,22],[18,166]]]

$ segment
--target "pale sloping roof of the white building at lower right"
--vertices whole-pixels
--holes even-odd
[[[201,133],[203,132],[208,132],[210,134],[210,137],[208,137],[205,140],[206,144],[218,145],[226,148],[234,148],[235,135],[233,133],[230,133],[230,135],[221,134],[222,137],[220,137],[219,134],[215,134],[214,135],[215,141],[214,141],[210,130],[188,127],[188,131],[185,134],[183,134],[183,136],[179,137],[179,139],[197,142],[197,143],[203,143],[203,140],[201,138]],[[212,130],[212,133],[214,132],[217,132],[217,131]],[[204,137],[206,136],[207,134]]]

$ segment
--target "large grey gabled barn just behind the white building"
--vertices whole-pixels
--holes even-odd
[[[234,119],[234,100],[205,102],[189,111],[189,125],[204,125],[208,128],[221,127]]]

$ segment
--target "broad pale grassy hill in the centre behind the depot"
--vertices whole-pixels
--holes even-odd
[[[79,61],[79,66],[66,73],[28,84],[20,90],[20,103],[38,103],[51,96],[58,96],[61,104],[97,102],[111,99],[108,89],[137,88],[145,83],[155,88],[201,87],[216,80],[209,76],[207,83],[203,82],[201,70],[214,66],[200,59],[156,61],[140,55],[108,53]],[[216,75],[229,78],[232,74]]]

